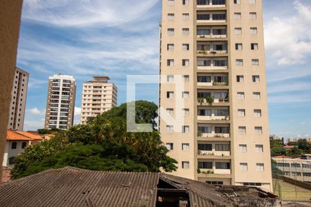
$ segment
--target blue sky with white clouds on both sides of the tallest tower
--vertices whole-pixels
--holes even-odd
[[[229,1],[229,0],[228,0]],[[263,0],[270,134],[311,136],[311,1]],[[160,0],[24,0],[17,66],[30,72],[24,130],[44,127],[48,77],[107,75],[126,102],[126,75],[158,75]],[[158,103],[158,86],[136,99]]]

